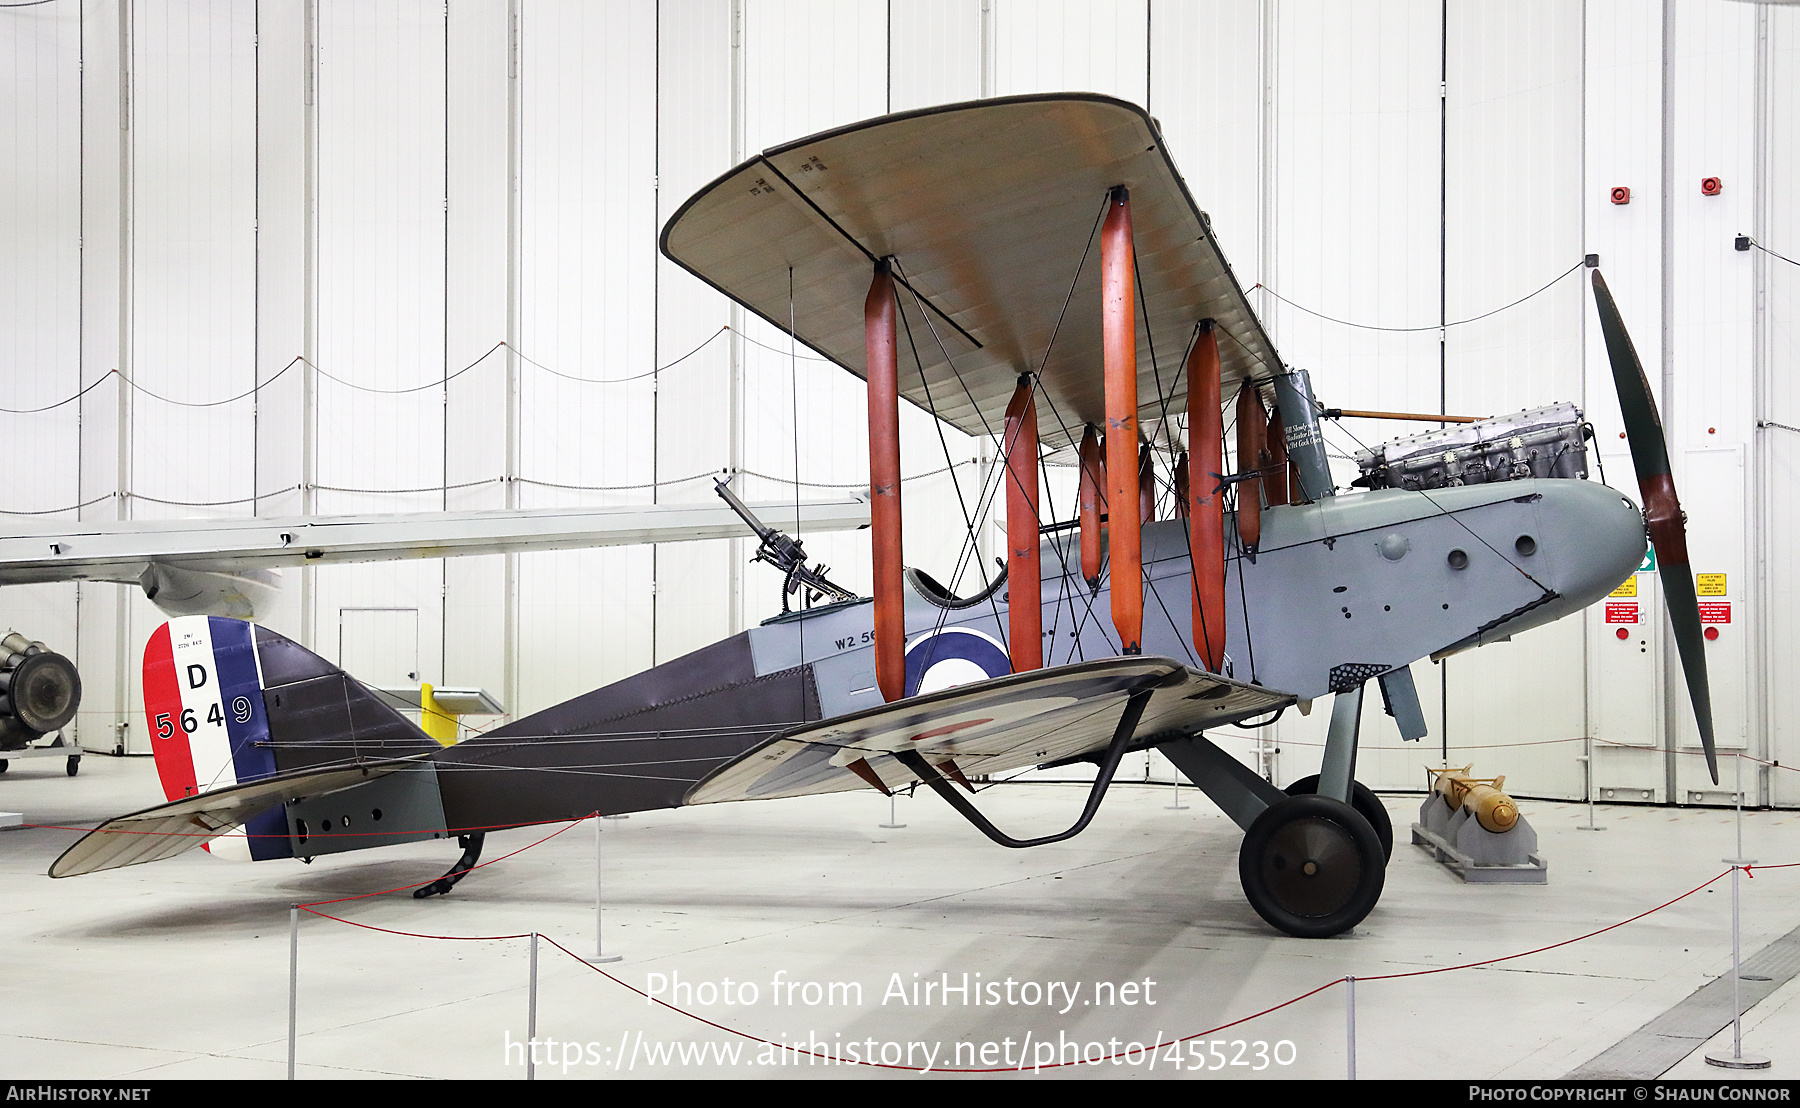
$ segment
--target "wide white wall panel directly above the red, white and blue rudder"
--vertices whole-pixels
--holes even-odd
[[[131,514],[250,514],[256,9],[149,0],[131,47]]]

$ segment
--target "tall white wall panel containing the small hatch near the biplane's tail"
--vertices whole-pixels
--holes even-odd
[[[430,0],[320,4],[317,41],[315,505],[320,513],[439,509],[445,9]],[[418,658],[430,662],[421,676],[436,676],[441,561],[315,572],[319,653],[337,657],[344,610],[416,608]]]

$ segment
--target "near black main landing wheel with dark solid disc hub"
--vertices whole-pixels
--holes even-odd
[[[1300,939],[1328,939],[1363,923],[1381,899],[1386,872],[1368,820],[1319,795],[1271,806],[1238,849],[1249,907]]]

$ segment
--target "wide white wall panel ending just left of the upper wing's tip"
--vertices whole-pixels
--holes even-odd
[[[655,4],[520,16],[520,505],[648,504],[655,471]],[[603,486],[562,489],[554,486]],[[652,660],[648,547],[518,558],[518,705]]]

